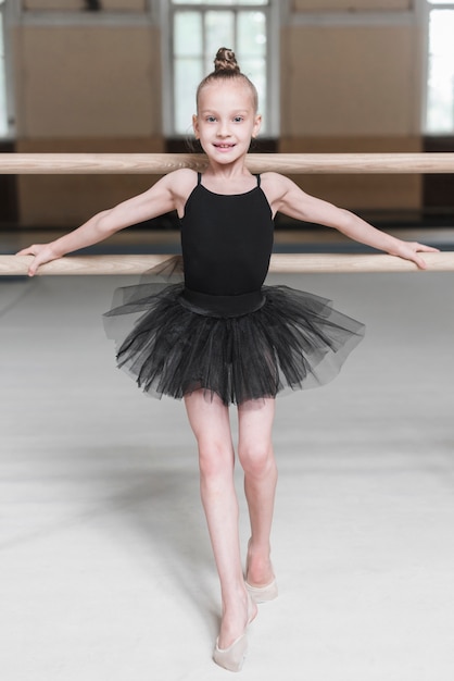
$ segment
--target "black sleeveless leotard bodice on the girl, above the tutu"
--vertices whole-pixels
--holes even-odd
[[[257,309],[273,249],[272,209],[257,185],[244,194],[214,194],[198,183],[181,219],[184,298],[232,314]],[[215,297],[212,300],[212,297]],[[230,298],[235,297],[235,298]],[[225,298],[225,300],[224,300]]]

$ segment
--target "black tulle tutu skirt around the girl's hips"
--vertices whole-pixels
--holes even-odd
[[[118,367],[155,397],[202,388],[238,405],[323,385],[364,336],[330,300],[288,286],[264,286],[262,307],[238,317],[191,306],[182,292],[182,283],[124,287],[104,314]]]

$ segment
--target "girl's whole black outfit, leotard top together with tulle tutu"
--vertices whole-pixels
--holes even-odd
[[[181,246],[184,283],[128,286],[124,304],[108,313],[140,314],[126,337],[119,324],[117,358],[148,394],[203,389],[240,405],[321,385],[363,337],[363,325],[329,300],[264,284],[273,215],[258,176],[251,191],[225,196],[199,175]]]

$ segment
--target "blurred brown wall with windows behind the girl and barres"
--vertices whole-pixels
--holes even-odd
[[[188,151],[220,46],[257,85],[256,152],[453,151],[453,36],[447,1],[0,0],[0,151]],[[156,179],[0,175],[0,230],[66,231]],[[452,175],[293,179],[382,227],[453,225]]]

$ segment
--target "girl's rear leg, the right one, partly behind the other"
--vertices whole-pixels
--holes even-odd
[[[248,546],[248,583],[264,586],[273,579],[270,532],[277,467],[272,444],[275,400],[244,403],[238,408],[238,458],[244,470],[244,492],[251,521]]]

